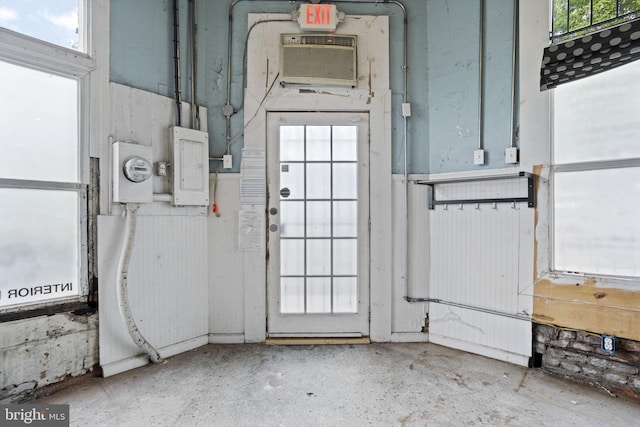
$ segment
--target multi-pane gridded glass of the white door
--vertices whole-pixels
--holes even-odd
[[[280,312],[355,313],[358,288],[357,220],[351,233],[346,231],[348,226],[336,227],[335,223],[336,213],[344,210],[345,204],[352,205],[351,217],[357,218],[357,207],[353,209],[357,206],[357,190],[354,191],[357,189],[357,177],[353,174],[350,183],[336,182],[338,176],[345,176],[344,173],[337,174],[336,169],[351,167],[357,171],[357,127],[282,126],[280,130],[280,187],[283,189],[280,195]],[[350,133],[346,141],[339,135],[344,131]],[[326,132],[327,138],[314,137],[317,132]],[[297,136],[288,139],[290,134]],[[344,142],[350,145],[346,149],[340,147]],[[320,182],[311,180],[309,172],[314,169],[316,173],[318,169],[328,171],[328,179],[326,176],[324,179],[325,188],[321,173],[314,177]],[[286,185],[296,184],[289,179],[289,174],[296,170],[298,175],[302,175],[302,185],[297,182],[298,185],[292,189]],[[353,197],[349,197],[349,184]],[[321,221],[323,217],[326,220],[324,224]],[[296,226],[295,222],[289,222],[291,219],[302,219],[303,225]],[[343,250],[340,251],[340,248]],[[342,257],[349,253],[353,262]],[[323,258],[324,262],[316,262],[318,258]],[[347,271],[349,267],[351,271]]]

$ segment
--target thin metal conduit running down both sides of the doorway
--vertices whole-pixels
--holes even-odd
[[[231,59],[232,59],[232,37],[233,37],[233,8],[236,4],[243,0],[233,0],[229,4],[229,33],[228,33],[228,45],[227,45],[227,103],[223,108],[223,114],[226,117],[227,130],[227,152],[230,150],[231,139],[231,116],[234,113],[231,105]],[[274,0],[253,0],[253,1],[274,1]],[[276,0],[277,1],[277,0]],[[407,8],[399,0],[332,0],[332,3],[363,3],[363,4],[393,4],[402,9],[403,13],[403,53],[402,53],[402,103],[407,103],[408,93],[408,70],[407,64],[408,58],[408,18]],[[404,227],[404,299],[407,302],[415,302],[414,298],[409,296],[409,172],[408,172],[408,116],[403,114],[403,140],[402,145],[404,149],[404,215],[403,215],[403,227]]]

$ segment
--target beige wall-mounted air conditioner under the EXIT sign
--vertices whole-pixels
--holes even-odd
[[[281,34],[281,84],[356,87],[356,42],[348,35]]]

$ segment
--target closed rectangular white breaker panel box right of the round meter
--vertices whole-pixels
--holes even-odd
[[[169,135],[174,206],[209,205],[209,135],[177,126]]]

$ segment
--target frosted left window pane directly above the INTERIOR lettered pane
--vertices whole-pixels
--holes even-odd
[[[78,182],[78,83],[0,61],[0,178]]]

